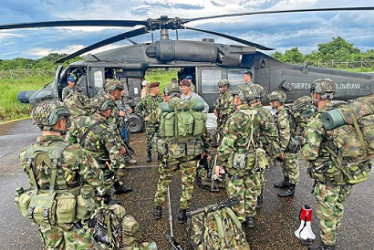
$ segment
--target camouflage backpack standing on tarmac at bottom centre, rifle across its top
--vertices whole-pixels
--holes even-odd
[[[188,241],[193,249],[250,249],[231,206],[237,198],[187,212]]]

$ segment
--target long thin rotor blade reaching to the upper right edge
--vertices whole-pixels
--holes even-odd
[[[374,10],[374,7],[341,7],[341,8],[316,8],[316,9],[296,9],[296,10],[266,10],[266,11],[253,11],[235,14],[224,14],[216,16],[204,16],[196,18],[182,19],[181,23],[188,23],[192,21],[221,18],[221,17],[236,17],[236,16],[250,16],[250,15],[264,15],[264,14],[279,14],[279,13],[298,13],[298,12],[328,12],[328,11],[360,11],[360,10]]]

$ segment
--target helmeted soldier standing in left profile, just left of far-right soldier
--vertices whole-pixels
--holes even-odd
[[[283,173],[283,181],[274,184],[274,187],[285,188],[278,192],[278,196],[286,197],[295,193],[295,187],[299,180],[299,166],[297,161],[298,145],[294,145],[294,124],[292,117],[284,107],[286,94],[283,91],[273,91],[268,94],[270,106],[276,110],[275,124],[279,133],[280,155],[278,160]],[[297,141],[295,141],[297,142]]]

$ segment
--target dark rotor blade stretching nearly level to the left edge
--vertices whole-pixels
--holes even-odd
[[[73,26],[112,26],[112,27],[134,27],[136,25],[147,25],[147,21],[137,20],[68,20],[68,21],[48,21],[35,23],[16,23],[0,25],[0,30],[6,29],[26,29],[45,27],[73,27]]]

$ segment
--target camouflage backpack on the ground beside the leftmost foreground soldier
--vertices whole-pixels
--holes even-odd
[[[94,228],[94,239],[103,249],[157,249],[155,242],[139,243],[139,223],[118,204],[97,209],[89,226]]]

